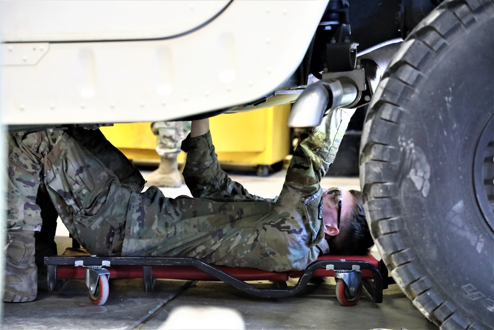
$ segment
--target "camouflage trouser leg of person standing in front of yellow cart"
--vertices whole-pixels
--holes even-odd
[[[182,140],[190,133],[190,121],[154,122],[151,130],[157,137],[156,152],[165,158],[174,158],[180,153]]]

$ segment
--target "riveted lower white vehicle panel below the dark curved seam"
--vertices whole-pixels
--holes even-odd
[[[160,121],[250,102],[294,72],[327,3],[237,0],[163,40],[4,43],[2,121]]]

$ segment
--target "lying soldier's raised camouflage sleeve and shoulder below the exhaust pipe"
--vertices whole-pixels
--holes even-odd
[[[334,161],[354,110],[331,111],[319,127],[301,137],[280,196],[260,232],[259,241],[280,268],[303,269],[319,253],[324,240],[321,178]]]

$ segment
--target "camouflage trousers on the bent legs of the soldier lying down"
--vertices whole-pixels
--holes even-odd
[[[7,141],[7,229],[40,231],[36,198],[45,193],[82,246],[104,254],[121,250],[126,212],[114,212],[112,200],[140,191],[144,180],[99,130],[9,133]],[[78,225],[94,214],[100,219],[89,228]],[[112,234],[122,235],[119,242]]]

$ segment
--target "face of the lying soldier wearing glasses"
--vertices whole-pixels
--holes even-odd
[[[338,225],[338,205],[340,200],[340,223]],[[347,228],[347,222],[352,215],[354,207],[355,199],[347,190],[335,188],[323,189],[323,221],[326,238],[337,236]]]

